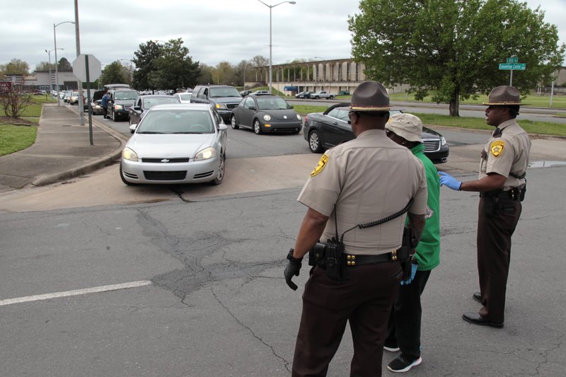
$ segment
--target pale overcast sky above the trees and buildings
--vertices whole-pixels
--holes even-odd
[[[280,0],[262,0],[275,5]],[[539,4],[545,21],[558,25],[566,42],[566,0],[527,0]],[[238,64],[256,55],[269,57],[270,8],[258,0],[78,0],[81,53],[102,64],[132,59],[140,43],[183,38],[194,61],[211,66]],[[348,16],[356,0],[296,0],[272,8],[273,63],[296,58],[350,57]],[[74,21],[74,0],[0,0],[0,64],[17,58],[47,62],[54,49],[53,25]],[[57,58],[76,58],[75,29],[57,26]],[[51,53],[54,62],[54,52]],[[519,57],[520,61],[520,57]],[[126,63],[126,62],[123,62]]]

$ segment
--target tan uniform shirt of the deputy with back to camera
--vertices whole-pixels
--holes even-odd
[[[299,194],[299,202],[330,216],[320,241],[403,209],[425,214],[427,178],[421,161],[404,146],[391,141],[382,129],[371,129],[356,139],[326,151]],[[336,211],[334,205],[336,204]],[[344,236],[345,251],[357,255],[390,253],[401,245],[405,217],[355,228]]]

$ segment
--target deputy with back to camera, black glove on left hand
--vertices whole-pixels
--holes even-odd
[[[371,228],[354,228],[343,237],[342,280],[316,265],[303,294],[292,375],[325,376],[340,345],[346,323],[354,340],[352,376],[381,376],[387,320],[403,272],[395,260],[405,217],[422,233],[427,208],[427,180],[422,163],[409,149],[386,136],[389,97],[376,81],[364,81],[352,95],[350,122],[355,139],[335,146],[320,158],[299,195],[308,207],[284,276],[299,275],[301,261],[320,240],[325,243],[357,224],[403,214]],[[393,252],[393,253],[392,253]],[[347,261],[347,262],[345,262]]]

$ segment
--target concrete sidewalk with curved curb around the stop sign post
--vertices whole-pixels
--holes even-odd
[[[79,116],[66,106],[45,104],[35,144],[0,156],[0,192],[42,186],[110,165],[119,158],[125,137],[93,120],[93,144]]]

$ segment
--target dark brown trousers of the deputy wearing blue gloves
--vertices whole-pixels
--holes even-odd
[[[478,209],[478,274],[483,304],[479,314],[487,320],[503,323],[511,236],[522,207],[519,199],[499,199],[495,213],[486,215],[483,201],[480,198]]]

